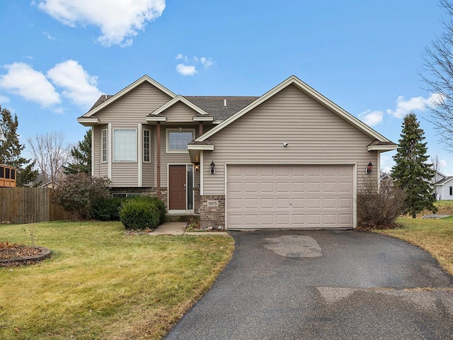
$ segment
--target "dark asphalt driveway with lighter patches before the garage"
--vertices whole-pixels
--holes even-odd
[[[233,259],[166,339],[453,339],[453,278],[398,239],[231,232]]]

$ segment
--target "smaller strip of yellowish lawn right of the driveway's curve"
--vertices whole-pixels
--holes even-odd
[[[400,217],[396,222],[403,227],[376,232],[420,246],[453,275],[453,216],[440,220]]]

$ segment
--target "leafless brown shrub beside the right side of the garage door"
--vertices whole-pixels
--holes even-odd
[[[378,187],[377,181],[365,179],[357,191],[357,227],[389,229],[396,227],[396,218],[404,211],[406,194],[398,186]]]

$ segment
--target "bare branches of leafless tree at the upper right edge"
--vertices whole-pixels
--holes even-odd
[[[430,118],[447,149],[453,150],[453,3],[440,0],[446,18],[442,18],[445,31],[425,47],[422,54],[420,77],[432,92],[428,105]]]

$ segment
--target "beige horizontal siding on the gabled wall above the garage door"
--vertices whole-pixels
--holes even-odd
[[[369,161],[377,176],[373,141],[340,116],[295,86],[288,86],[209,138],[204,152],[204,194],[223,195],[225,162],[229,164],[357,164],[357,183]],[[288,143],[283,147],[283,143]],[[216,174],[210,174],[210,163]]]

